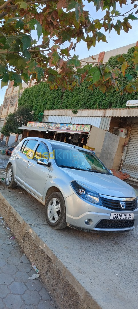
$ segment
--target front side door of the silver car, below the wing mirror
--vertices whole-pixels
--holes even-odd
[[[39,142],[33,159],[29,159],[26,168],[24,187],[43,200],[44,187],[51,167],[37,164],[40,158],[49,159],[49,150],[45,143]]]

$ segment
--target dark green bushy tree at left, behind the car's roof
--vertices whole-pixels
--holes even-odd
[[[18,127],[27,125],[27,121],[33,121],[34,116],[30,113],[30,109],[26,106],[20,106],[14,113],[10,113],[6,118],[6,124],[2,127],[1,133],[10,136],[10,133],[20,134]]]

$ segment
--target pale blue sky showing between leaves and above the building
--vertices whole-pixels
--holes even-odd
[[[120,8],[120,6],[118,6],[118,10],[121,11],[122,13],[125,13],[127,11],[129,11],[132,8],[132,5],[130,4],[130,0],[128,0],[128,5],[123,5],[122,8]],[[93,3],[88,3],[87,1],[84,1],[85,4],[85,8],[86,10],[88,10],[90,12],[90,16],[93,17],[93,19],[100,19],[102,18],[106,13],[105,11],[98,11],[98,13],[96,12],[95,7],[93,6]],[[135,13],[135,11],[137,10],[134,9],[134,11],[132,11],[133,13]],[[138,17],[138,15],[137,15]],[[104,32],[104,28],[101,28],[101,32],[106,34],[107,37],[107,43],[100,41],[99,43],[96,42],[96,46],[95,47],[91,47],[90,50],[88,51],[86,43],[84,41],[81,41],[77,44],[76,46],[76,52],[75,54],[79,56],[79,59],[82,58],[86,58],[89,57],[89,55],[96,55],[102,51],[108,51],[111,49],[115,49],[115,48],[119,48],[128,44],[132,44],[135,43],[138,40],[138,20],[130,20],[130,24],[132,25],[132,29],[129,29],[129,32],[126,33],[124,31],[120,32],[120,35],[118,35],[115,30],[113,29],[110,33],[110,35]],[[32,37],[33,39],[37,38],[37,34],[36,31],[33,31],[32,33]],[[74,51],[71,52],[71,55],[74,54]],[[0,90],[0,105],[3,103],[4,100],[4,95],[6,92],[6,87],[3,87],[2,90]]]

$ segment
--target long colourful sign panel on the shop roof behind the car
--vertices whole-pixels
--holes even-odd
[[[31,122],[28,121],[27,127],[39,128],[39,129],[51,129],[62,131],[76,131],[76,132],[90,132],[90,125],[72,125],[65,123],[46,123],[46,122]]]

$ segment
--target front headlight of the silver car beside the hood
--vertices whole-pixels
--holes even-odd
[[[100,199],[100,196],[96,192],[90,191],[90,189],[82,187],[80,184],[77,183],[77,181],[72,181],[71,185],[74,189],[74,191],[84,198],[86,201],[91,202],[93,204],[102,205],[102,201]]]

